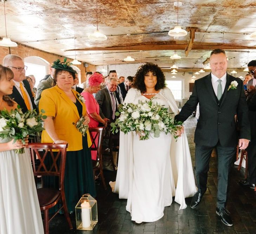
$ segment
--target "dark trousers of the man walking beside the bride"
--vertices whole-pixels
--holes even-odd
[[[202,146],[196,144],[196,181],[198,191],[202,194],[206,191],[206,183],[209,171],[209,162],[212,150],[216,148],[218,155],[218,192],[217,192],[217,207],[225,207],[227,200],[227,191],[229,184],[229,171],[234,161],[235,147],[223,147],[217,143],[216,146]]]

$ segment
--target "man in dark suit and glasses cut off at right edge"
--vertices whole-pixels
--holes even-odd
[[[256,80],[256,60],[248,63],[249,73],[253,76],[251,86],[248,92],[247,104],[249,108],[249,121],[251,127],[251,141],[247,148],[248,154],[248,177],[246,180],[240,180],[239,183],[245,187],[255,189],[256,184],[256,89],[253,86],[252,80]],[[248,74],[249,75],[249,74]],[[249,85],[248,81],[248,85]]]

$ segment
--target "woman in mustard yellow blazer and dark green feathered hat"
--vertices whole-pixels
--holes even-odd
[[[76,128],[81,116],[85,116],[85,124],[90,119],[83,99],[71,89],[76,72],[68,63],[60,63],[59,60],[54,62],[52,68],[55,68],[55,86],[45,89],[39,101],[39,109],[43,109],[47,116],[41,142],[68,143],[64,186],[68,211],[73,212],[83,194],[96,196],[91,153],[88,149],[91,138],[88,132],[83,137]]]

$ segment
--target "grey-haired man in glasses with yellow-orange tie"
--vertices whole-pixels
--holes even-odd
[[[11,68],[14,74],[13,81],[15,85],[13,86],[13,93],[9,96],[20,105],[23,112],[37,109],[31,88],[26,80],[25,71],[27,67],[24,65],[22,58],[14,54],[6,55],[3,59],[3,66]]]

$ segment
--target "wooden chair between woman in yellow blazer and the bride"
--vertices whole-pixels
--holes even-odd
[[[89,133],[92,140],[92,145],[89,149],[91,151],[97,151],[97,160],[92,160],[94,179],[96,180],[100,176],[104,189],[107,189],[105,179],[104,179],[104,174],[103,174],[103,168],[102,168],[103,162],[102,162],[102,154],[101,154],[103,129],[104,127],[89,128]],[[99,173],[96,175],[97,171],[99,171]]]

